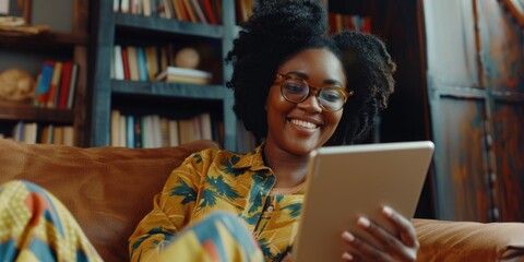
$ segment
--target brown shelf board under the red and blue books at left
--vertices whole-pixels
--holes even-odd
[[[0,100],[1,120],[73,123],[72,109],[38,108],[26,102]]]

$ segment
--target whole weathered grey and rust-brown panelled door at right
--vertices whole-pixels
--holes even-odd
[[[523,28],[492,0],[421,0],[436,216],[524,221]]]

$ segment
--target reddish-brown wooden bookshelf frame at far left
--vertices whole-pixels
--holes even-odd
[[[15,4],[15,1],[10,1]],[[74,103],[72,108],[38,108],[33,106],[31,98],[24,100],[9,100],[0,98],[0,133],[5,138],[13,138],[13,130],[19,122],[37,123],[38,129],[44,126],[73,127],[73,144],[86,146],[86,104],[84,98],[87,92],[88,67],[88,1],[52,0],[49,2],[25,1],[24,17],[32,24],[49,25],[49,32],[36,35],[10,34],[0,32],[0,72],[16,68],[29,73],[34,80],[41,71],[45,60],[72,61],[79,66]],[[41,3],[51,9],[66,8],[70,16],[62,21],[49,16]],[[71,10],[69,10],[71,8]],[[62,10],[63,11],[63,10]],[[63,17],[61,17],[63,19]],[[57,28],[53,23],[59,23]],[[63,28],[66,25],[66,29]]]

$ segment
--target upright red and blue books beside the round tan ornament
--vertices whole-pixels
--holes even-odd
[[[72,61],[46,60],[38,74],[33,105],[45,108],[73,107],[79,66]]]

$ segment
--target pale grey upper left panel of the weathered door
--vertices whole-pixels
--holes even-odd
[[[471,0],[425,0],[428,81],[479,87],[475,17]]]

